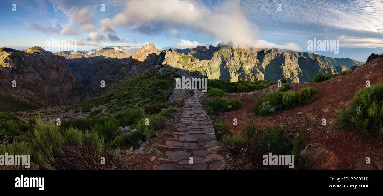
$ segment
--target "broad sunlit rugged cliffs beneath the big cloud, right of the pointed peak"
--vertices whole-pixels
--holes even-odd
[[[179,51],[179,52],[176,52]],[[182,53],[180,53],[182,52]],[[189,71],[201,71],[208,78],[229,81],[276,81],[286,78],[292,83],[309,81],[319,72],[336,74],[354,65],[362,65],[347,58],[331,58],[292,50],[233,49],[228,45],[218,47],[198,46],[188,50],[166,51],[163,64]]]

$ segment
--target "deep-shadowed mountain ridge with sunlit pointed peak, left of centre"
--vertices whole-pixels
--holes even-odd
[[[94,53],[64,51],[55,54],[65,57],[69,68],[85,84],[87,91],[100,85],[101,80],[106,83],[117,81],[123,76],[158,65],[160,58],[160,52],[152,43],[131,53],[115,50],[115,47],[105,47]]]

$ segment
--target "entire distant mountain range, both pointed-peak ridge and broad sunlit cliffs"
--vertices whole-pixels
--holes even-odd
[[[175,69],[190,72],[200,71],[211,79],[234,82],[262,79],[276,81],[286,78],[289,82],[299,83],[313,79],[319,72],[335,74],[353,65],[362,64],[351,59],[330,58],[314,53],[278,49],[261,50],[254,47],[234,49],[224,44],[219,44],[217,47],[210,46],[209,49],[200,45],[195,49],[170,49],[159,52],[151,43],[134,53],[125,53],[125,55],[116,54],[112,47],[101,49],[95,55],[86,55],[84,52],[58,54],[67,58],[70,68],[83,83],[92,83],[91,88],[94,87],[93,84],[96,84],[94,81],[98,81],[102,75],[105,75],[104,78],[110,78],[109,76],[113,73],[116,75],[115,79],[118,79],[121,74],[133,74],[153,65],[169,65]],[[105,58],[113,60],[114,63],[100,62]],[[116,68],[119,68],[118,74]]]

